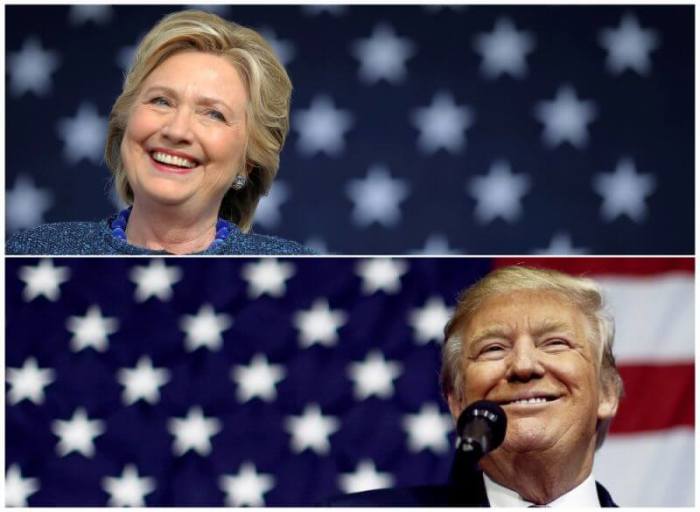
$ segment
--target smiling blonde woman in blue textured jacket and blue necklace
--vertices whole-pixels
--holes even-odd
[[[291,89],[255,31],[200,11],[166,16],[109,116],[105,161],[129,208],[19,233],[7,253],[310,253],[249,233],[279,167]]]

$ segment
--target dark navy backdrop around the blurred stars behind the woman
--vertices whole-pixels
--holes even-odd
[[[597,254],[691,254],[694,247],[693,18],[692,6],[342,6],[341,12],[311,14],[308,6],[218,6],[225,16],[256,29],[267,27],[293,43],[287,69],[294,84],[292,128],[281,157],[278,181],[289,193],[277,223],[255,230],[298,240],[330,253],[399,254],[420,251],[431,236],[443,236],[452,250],[472,254],[524,254],[546,249],[557,234],[575,249]],[[51,91],[13,96],[6,87],[6,183],[17,177],[50,191],[44,221],[97,220],[115,211],[109,171],[83,159],[69,164],[58,137],[59,119],[75,116],[83,103],[109,114],[119,94],[120,49],[134,45],[163,15],[184,6],[115,6],[105,23],[70,23],[69,6],[7,6],[6,52],[19,51],[29,36],[56,51],[60,67]],[[599,44],[603,28],[617,28],[626,13],[652,29],[660,45],[651,52],[646,76],[610,73]],[[487,79],[473,48],[477,34],[491,33],[499,18],[535,38],[523,79]],[[379,23],[415,45],[403,83],[359,80],[359,61],[350,47]],[[10,73],[10,66],[7,66]],[[9,76],[9,75],[8,75]],[[9,78],[8,78],[9,83]],[[535,104],[551,101],[565,84],[579,99],[594,101],[597,118],[589,142],[548,148]],[[421,153],[411,112],[428,106],[437,91],[452,94],[475,114],[459,154]],[[329,95],[354,118],[345,150],[312,157],[297,150],[294,113],[314,97]],[[612,172],[631,158],[637,172],[653,175],[655,192],[647,217],[606,222],[593,176]],[[507,160],[527,174],[531,189],[513,223],[480,224],[470,178]],[[410,187],[401,220],[391,228],[357,226],[346,187],[375,164]],[[12,226],[8,226],[8,233]],[[559,252],[567,252],[560,250]]]

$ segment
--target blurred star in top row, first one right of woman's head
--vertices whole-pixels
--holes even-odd
[[[406,78],[406,61],[415,53],[410,39],[397,37],[385,23],[374,27],[372,35],[352,44],[352,55],[360,61],[360,79],[368,84],[386,80],[398,84]]]

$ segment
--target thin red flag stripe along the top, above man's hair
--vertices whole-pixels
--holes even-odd
[[[662,272],[693,274],[693,258],[495,258],[494,267],[526,265],[551,268],[569,274],[649,275]]]

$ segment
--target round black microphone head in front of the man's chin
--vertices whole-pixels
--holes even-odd
[[[498,448],[506,437],[507,419],[503,408],[495,402],[478,400],[467,406],[457,420],[457,436],[462,439],[481,437],[486,454]],[[478,436],[475,436],[476,433]]]

